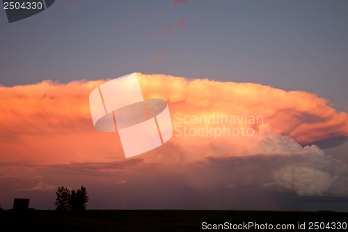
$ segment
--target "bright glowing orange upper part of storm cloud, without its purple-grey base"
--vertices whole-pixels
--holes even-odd
[[[122,157],[117,134],[95,131],[90,119],[88,95],[104,82],[100,80],[58,84],[45,81],[28,86],[1,87],[0,136],[1,147],[6,150],[3,157],[13,161],[20,157],[19,160],[27,158],[42,162],[100,161],[115,155]],[[327,105],[327,100],[311,93],[287,92],[260,84],[190,80],[169,75],[139,75],[139,82],[144,98],[161,98],[168,102],[173,126],[202,127],[202,124],[187,125],[183,120],[184,116],[208,117],[212,114],[240,118],[246,115],[262,116],[262,122],[256,124],[245,124],[242,121],[232,125],[253,127],[255,132],[259,130],[258,124],[268,125],[261,130],[263,134],[258,132],[254,137],[220,136],[217,139],[198,135],[178,137],[183,129],[177,127],[179,129],[174,130],[168,146],[186,149],[187,144],[204,144],[207,147],[213,144],[215,148],[221,146],[217,151],[233,153],[243,150],[243,146],[237,146],[241,142],[258,141],[260,145],[253,148],[252,153],[262,153],[261,144],[267,143],[267,140],[263,140],[275,140],[272,133],[283,134],[300,144],[333,137],[348,137],[347,113],[336,112]],[[223,127],[216,123],[209,126]],[[228,144],[237,147],[232,149]],[[272,144],[264,146],[268,150],[274,147],[274,153],[277,152],[276,146]],[[100,148],[105,151],[102,155],[90,155],[97,153]],[[35,159],[35,154],[38,153],[41,155],[37,155],[38,158]],[[50,153],[55,155],[49,155]]]

